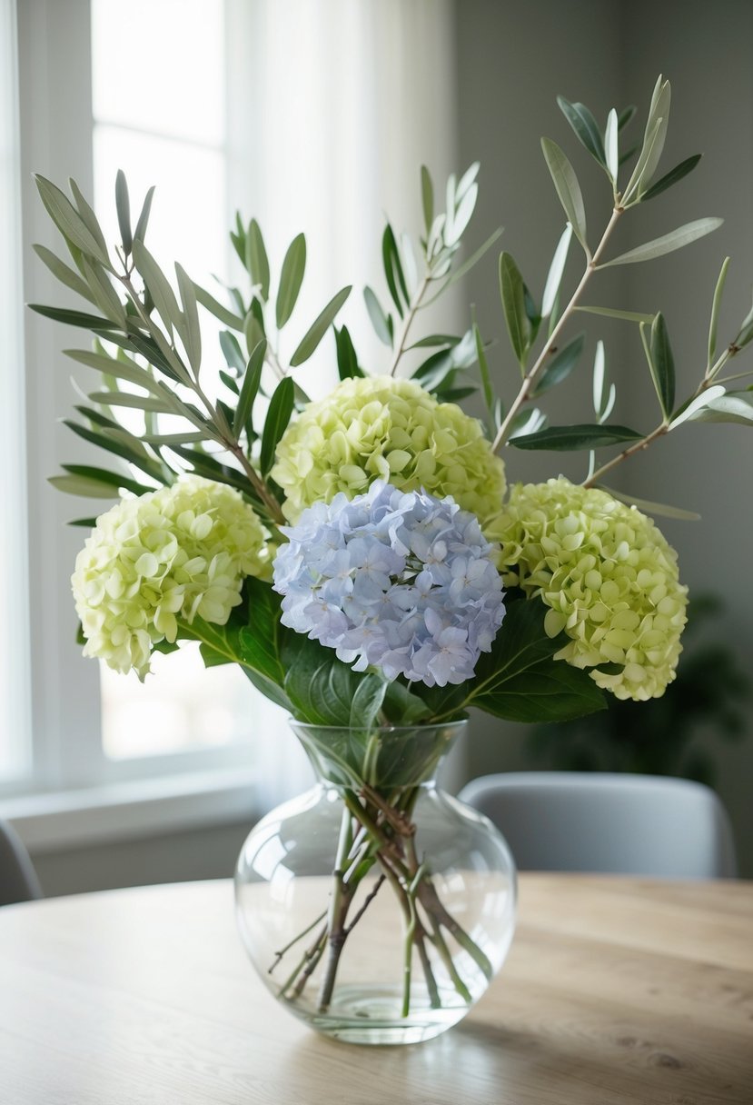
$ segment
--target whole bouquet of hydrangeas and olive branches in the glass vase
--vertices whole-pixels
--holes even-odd
[[[753,393],[738,382],[746,373],[728,372],[753,339],[753,311],[725,344],[717,338],[729,259],[711,304],[706,370],[679,399],[661,313],[595,307],[586,298],[600,270],[661,256],[720,223],[699,219],[609,254],[616,223],[699,160],[657,175],[669,82],[658,80],[643,138],[629,151],[622,137],[634,108],[612,109],[602,129],[583,104],[559,104],[604,171],[612,214],[596,242],[569,158],[542,139],[565,224],[540,296],[512,256],[499,255],[517,383],[515,372],[492,367],[475,323],[462,335],[425,334],[418,325],[423,308],[498,238],[459,263],[478,165],[449,178],[444,209],[423,168],[422,233],[384,228],[389,306],[384,293],[363,294],[385,359],[368,368],[338,325],[350,287],[300,328],[287,364],[279,357],[277,338],[294,328],[304,280],[303,234],[275,278],[259,225],[238,215],[231,238],[245,284],[226,288],[221,302],[179,264],[173,282],[149,252],[151,191],[134,227],[118,175],[120,242],[109,249],[74,182],[68,199],[36,180],[72,264],[36,251],[87,308],[34,309],[94,335],[91,347],[66,350],[100,379],[67,424],[110,457],[108,467],[64,465],[52,482],[117,499],[96,519],[75,523],[93,527],[73,575],[84,653],[144,678],[155,650],[199,641],[208,665],[238,664],[298,723],[362,735],[338,761],[352,796],[349,817],[371,834],[370,864],[382,864],[405,901],[413,883],[431,885],[431,872],[405,861],[400,823],[411,803],[403,803],[403,822],[395,820],[388,788],[369,775],[373,735],[453,723],[470,706],[552,722],[602,709],[605,693],[661,695],[675,677],[687,590],[650,515],[682,512],[618,494],[605,478],[691,422],[753,422]],[[630,158],[633,168],[623,169]],[[573,246],[583,254],[575,278]],[[222,326],[220,349],[210,354],[222,361],[214,390],[205,381],[201,309]],[[637,329],[657,399],[649,431],[611,420],[615,387],[601,341],[593,414],[551,425],[537,406],[583,354],[583,335],[568,336],[575,312]],[[339,381],[310,398],[305,366],[325,338]],[[478,402],[481,417],[462,409],[466,400]],[[507,486],[502,454],[510,449],[583,451],[583,481],[555,474]],[[425,903],[429,896],[425,891]],[[420,944],[415,926],[411,940]]]

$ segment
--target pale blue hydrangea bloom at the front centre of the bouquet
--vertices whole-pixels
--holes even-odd
[[[478,520],[453,502],[378,480],[284,529],[274,587],[283,623],[356,671],[463,683],[502,623],[502,581]],[[354,663],[353,663],[354,661]]]

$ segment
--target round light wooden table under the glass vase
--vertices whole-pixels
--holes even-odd
[[[229,882],[0,909],[3,1105],[753,1103],[753,883],[523,875],[459,1025],[361,1048],[257,980]]]

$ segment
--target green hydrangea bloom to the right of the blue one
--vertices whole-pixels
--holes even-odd
[[[688,589],[677,554],[650,518],[568,480],[517,484],[491,527],[508,586],[540,596],[544,628],[571,639],[558,654],[618,698],[658,697],[675,678]]]

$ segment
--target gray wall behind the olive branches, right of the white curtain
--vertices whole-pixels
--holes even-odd
[[[590,220],[594,232],[609,210],[608,192],[604,194],[602,188],[602,214],[596,218],[600,201],[594,186],[600,183],[601,171],[570,131],[556,107],[556,94],[588,104],[602,119],[612,106],[636,103],[645,118],[658,74],[671,81],[672,113],[662,166],[668,169],[694,152],[703,152],[703,160],[687,180],[625,218],[613,255],[703,215],[721,215],[725,224],[682,253],[614,271],[611,286],[602,282],[606,274],[600,274],[592,302],[635,311],[660,308],[675,349],[678,394],[688,392],[706,362],[711,297],[727,254],[732,255],[732,266],[721,340],[733,336],[733,327],[750,307],[753,4],[749,0],[712,6],[637,0],[626,9],[607,0],[528,4],[463,0],[456,12],[459,158],[464,165],[475,158],[481,161],[482,225],[476,232],[480,238],[491,227],[503,224],[503,248],[539,293],[562,225],[539,147],[541,135],[560,143],[571,156],[586,211],[594,212]],[[637,139],[643,125],[636,123],[638,118],[633,124]],[[506,348],[491,261],[469,277],[468,292],[486,336],[499,338],[497,365],[500,370],[505,365],[510,373],[511,394],[515,370]],[[649,410],[654,418],[648,406],[653,400],[650,386],[644,383],[647,373],[637,335],[613,323],[600,329],[590,325],[590,333],[594,337],[601,333],[607,343],[618,388],[618,420],[639,429],[655,424],[647,418]],[[588,407],[574,404],[575,390],[563,396],[553,412],[556,421],[588,420]],[[583,389],[582,394],[588,403],[588,392]],[[753,670],[752,445],[751,431],[744,427],[696,425],[618,470],[623,485],[634,494],[701,514],[698,523],[659,519],[659,526],[678,549],[681,578],[691,593],[713,590],[725,601],[720,633],[736,648],[749,673]],[[561,456],[540,454],[537,465],[531,465],[528,454],[510,450],[506,459],[512,478],[538,480],[555,474],[560,466],[572,474],[570,465],[561,465]],[[718,758],[719,789],[732,814],[743,872],[749,876],[753,875],[752,733],[753,717],[740,746],[723,745],[713,733],[703,735]],[[477,717],[469,770],[482,774],[532,766],[524,745],[522,727]],[[537,761],[537,766],[542,765]]]

